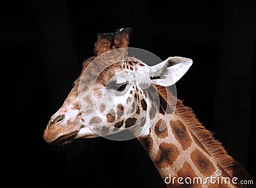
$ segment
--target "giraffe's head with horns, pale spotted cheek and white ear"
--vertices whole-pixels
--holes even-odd
[[[173,86],[188,71],[192,60],[170,57],[149,66],[128,56],[130,33],[125,28],[98,35],[95,56],[84,61],[81,75],[44,131],[47,143],[65,144],[99,136],[128,139],[147,134],[161,100],[155,84]]]

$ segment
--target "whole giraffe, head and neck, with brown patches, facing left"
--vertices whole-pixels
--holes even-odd
[[[130,34],[130,28],[122,28],[97,36],[94,56],[84,60],[81,75],[44,130],[44,140],[65,145],[128,130],[167,187],[243,187],[238,180],[252,180],[168,89],[186,74],[192,60],[176,56],[150,67],[127,55]],[[90,76],[84,79],[84,74]]]

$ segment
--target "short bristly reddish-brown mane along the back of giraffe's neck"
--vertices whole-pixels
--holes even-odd
[[[170,93],[170,91],[168,91],[168,89],[166,89],[166,87],[156,84],[155,86],[164,100],[173,101],[172,98],[174,96],[172,93]],[[168,96],[171,98],[168,98]],[[198,139],[202,146],[204,146],[205,149],[212,155],[212,157],[214,157],[216,162],[220,164],[221,168],[223,168],[228,173],[228,175],[232,177],[236,176],[240,180],[252,180],[252,176],[248,175],[246,170],[235,159],[228,155],[220,141],[214,138],[213,133],[205,129],[202,123],[198,121],[193,110],[190,107],[184,106],[182,100],[179,100],[178,98],[175,114],[184,120],[184,123],[188,129],[191,130],[196,139]]]

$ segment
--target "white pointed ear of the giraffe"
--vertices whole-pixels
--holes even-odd
[[[182,57],[170,57],[150,68],[148,76],[154,84],[161,86],[172,86],[186,74],[192,65],[192,59]]]

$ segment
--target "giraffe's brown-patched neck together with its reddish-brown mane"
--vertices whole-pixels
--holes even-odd
[[[165,129],[159,131],[160,124],[166,123],[162,122],[164,114],[159,113],[149,133],[138,137],[166,185],[182,186],[184,184],[179,182],[184,183],[186,179],[185,184],[191,183],[195,186],[198,179],[196,187],[206,187],[206,182],[218,187],[220,182],[218,184],[217,181],[227,178],[230,182],[222,183],[223,187],[236,187],[232,184],[233,177],[236,176],[240,180],[249,179],[250,176],[227,155],[221,144],[212,137],[211,132],[196,120],[193,112],[184,107],[180,100],[178,103],[173,118]]]

